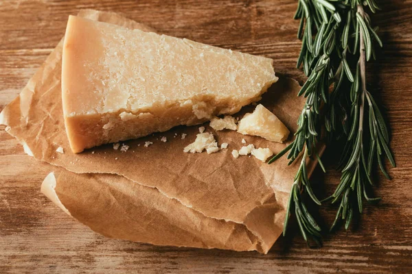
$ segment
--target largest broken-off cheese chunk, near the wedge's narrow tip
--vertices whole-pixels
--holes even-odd
[[[290,133],[282,121],[261,104],[253,113],[244,115],[238,124],[238,132],[260,136],[271,142],[283,142]]]

